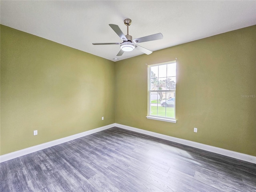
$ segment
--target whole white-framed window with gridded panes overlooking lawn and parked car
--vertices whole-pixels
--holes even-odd
[[[148,66],[149,119],[175,122],[176,61]]]

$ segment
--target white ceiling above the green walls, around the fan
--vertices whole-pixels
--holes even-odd
[[[0,1],[1,24],[114,61],[138,56],[138,50],[116,56],[122,42],[108,24],[139,38],[164,38],[139,45],[155,51],[256,24],[256,1]],[[154,54],[154,53],[153,53]]]

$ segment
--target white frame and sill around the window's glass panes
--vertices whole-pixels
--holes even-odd
[[[148,119],[153,119],[153,120],[159,120],[159,121],[165,121],[165,122],[172,122],[172,123],[176,123],[176,89],[175,90],[150,90],[150,85],[151,85],[151,74],[150,74],[150,67],[153,66],[160,66],[160,65],[165,65],[165,64],[171,64],[171,63],[176,63],[176,60],[174,61],[170,61],[170,62],[164,62],[164,63],[158,63],[158,64],[152,64],[152,65],[148,65],[148,116],[146,116],[146,118]],[[175,76],[177,77],[177,75]],[[156,116],[156,115],[151,115],[151,105],[150,105],[150,96],[152,92],[174,92],[174,96],[175,96],[175,100],[174,100],[174,118],[170,118],[170,117],[163,117],[163,116]]]

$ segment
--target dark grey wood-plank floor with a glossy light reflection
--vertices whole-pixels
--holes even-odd
[[[256,191],[256,164],[116,127],[0,166],[1,192]]]

